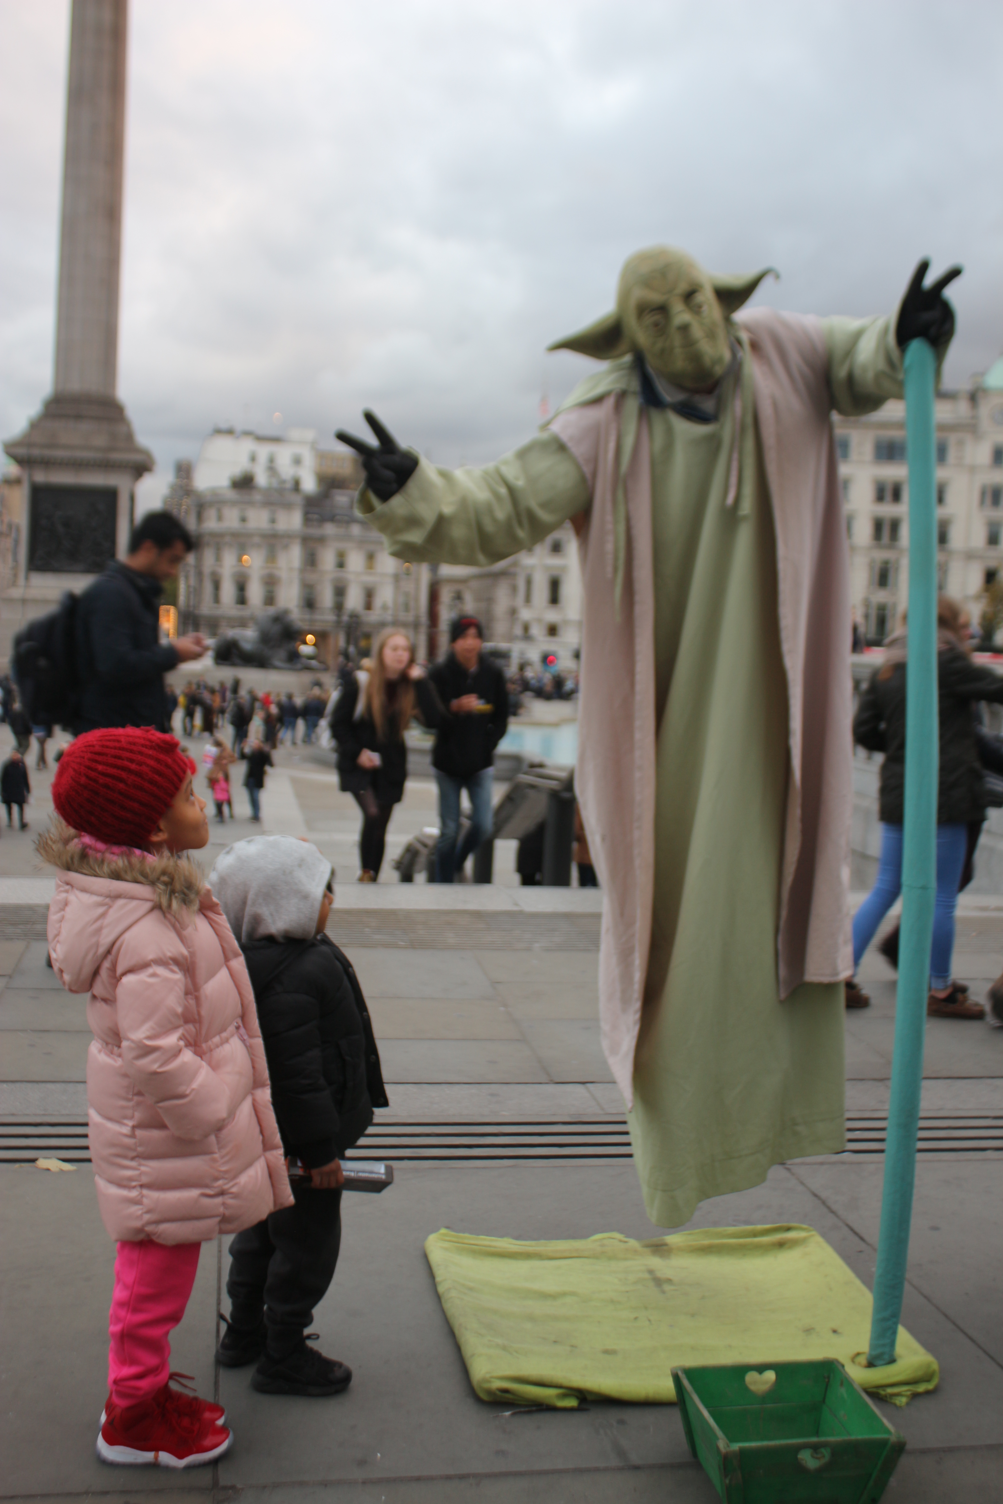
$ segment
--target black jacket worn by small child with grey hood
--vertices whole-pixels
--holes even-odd
[[[244,960],[283,1148],[310,1169],[340,1160],[389,1105],[352,964],[326,935],[251,940]]]

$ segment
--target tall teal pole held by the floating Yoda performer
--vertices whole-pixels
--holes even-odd
[[[881,1232],[868,1349],[871,1367],[895,1363],[902,1316],[937,892],[937,358],[932,346],[926,340],[910,340],[904,368],[910,535],[902,931]]]

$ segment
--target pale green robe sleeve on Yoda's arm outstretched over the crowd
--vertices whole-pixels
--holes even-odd
[[[448,471],[420,459],[389,501],[364,486],[355,505],[397,558],[480,567],[531,549],[589,499],[571,451],[555,433],[540,433],[484,469]]]

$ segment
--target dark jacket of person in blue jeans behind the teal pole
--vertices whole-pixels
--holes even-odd
[[[878,669],[853,720],[853,737],[869,752],[884,752],[880,817],[887,826],[904,821],[905,785],[905,663],[887,678]],[[937,654],[940,707],[940,784],[937,824],[962,826],[985,818],[985,785],[976,744],[974,705],[1003,702],[1003,678],[973,663],[961,648]]]

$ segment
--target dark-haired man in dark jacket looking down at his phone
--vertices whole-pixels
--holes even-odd
[[[80,713],[75,731],[98,726],[170,729],[164,674],[202,657],[200,633],[159,641],[159,599],[194,549],[170,511],[150,511],[132,528],[125,559],[113,559],[77,602]]]

